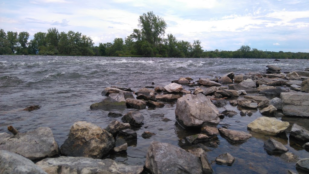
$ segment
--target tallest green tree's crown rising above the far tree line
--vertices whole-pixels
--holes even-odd
[[[160,36],[163,36],[167,28],[163,18],[156,16],[153,11],[148,11],[147,14],[139,16],[138,26],[141,27],[142,36],[151,45],[157,46]]]

